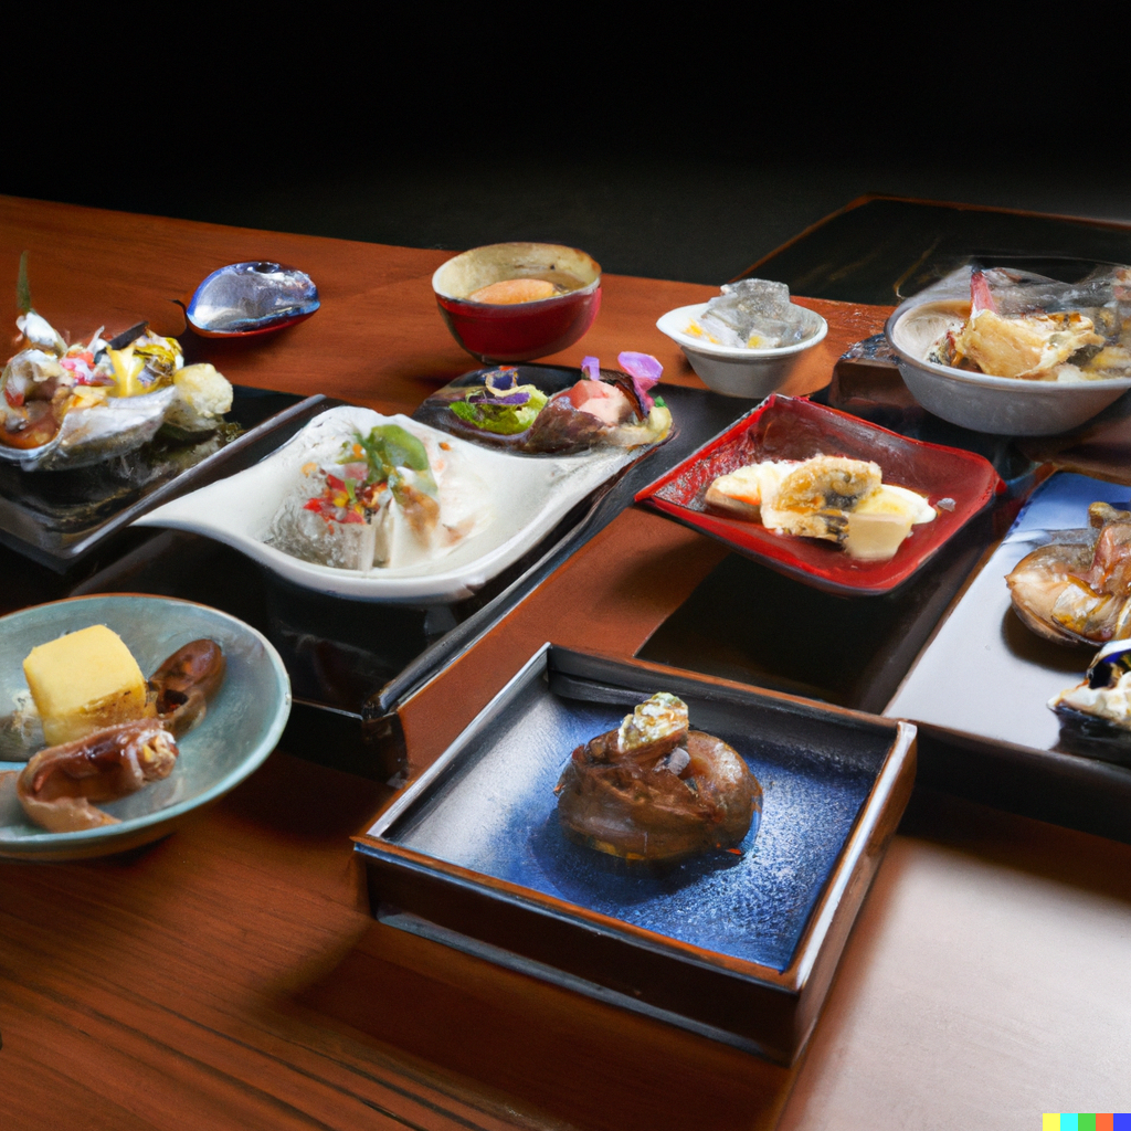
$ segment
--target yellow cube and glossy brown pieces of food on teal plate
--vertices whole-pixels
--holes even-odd
[[[33,648],[24,661],[29,694],[17,711],[28,761],[0,784],[14,784],[25,815],[49,832],[119,823],[96,803],[172,774],[176,740],[204,718],[225,667],[219,645],[193,640],[145,680],[103,624]],[[41,735],[48,745],[33,752]]]

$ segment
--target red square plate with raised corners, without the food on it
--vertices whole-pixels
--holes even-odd
[[[926,495],[935,518],[912,527],[886,562],[857,561],[830,542],[774,534],[760,523],[728,517],[703,503],[707,487],[763,459],[847,456],[880,465],[883,482]],[[682,464],[645,487],[636,501],[806,585],[844,596],[890,593],[953,537],[1004,484],[990,463],[877,428],[810,400],[774,394]],[[953,500],[953,510],[940,509]]]

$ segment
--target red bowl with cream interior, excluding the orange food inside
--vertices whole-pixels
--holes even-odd
[[[572,276],[581,286],[536,302],[493,305],[467,295],[503,279]],[[556,243],[492,243],[449,259],[432,290],[451,336],[486,364],[532,361],[571,346],[601,309],[601,265]]]

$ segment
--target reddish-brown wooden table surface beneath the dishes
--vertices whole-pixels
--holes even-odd
[[[76,335],[138,317],[178,329],[171,299],[274,258],[309,270],[323,308],[259,345],[187,338],[230,378],[411,409],[468,368],[430,294],[443,252],[12,199],[0,215],[0,279],[28,250],[36,309]],[[597,325],[554,360],[645,349],[696,383],[654,322],[709,290],[604,287]],[[830,334],[792,391],[886,314],[813,305]],[[631,655],[719,555],[625,512],[405,705],[413,769],[543,640]],[[12,555],[0,569],[6,610],[51,592]],[[0,864],[6,1131],[1031,1128],[1042,1111],[1128,1107],[1124,845],[917,796],[791,1071],[378,925],[349,837],[389,791],[303,753],[277,751],[148,848]]]

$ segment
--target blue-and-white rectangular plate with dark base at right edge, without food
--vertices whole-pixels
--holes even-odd
[[[998,809],[1131,843],[1131,751],[1061,728],[1052,696],[1083,679],[1096,646],[1026,628],[1005,575],[1052,532],[1087,524],[1129,489],[1074,474],[1044,481],[947,608],[884,714],[920,728],[921,782]]]

